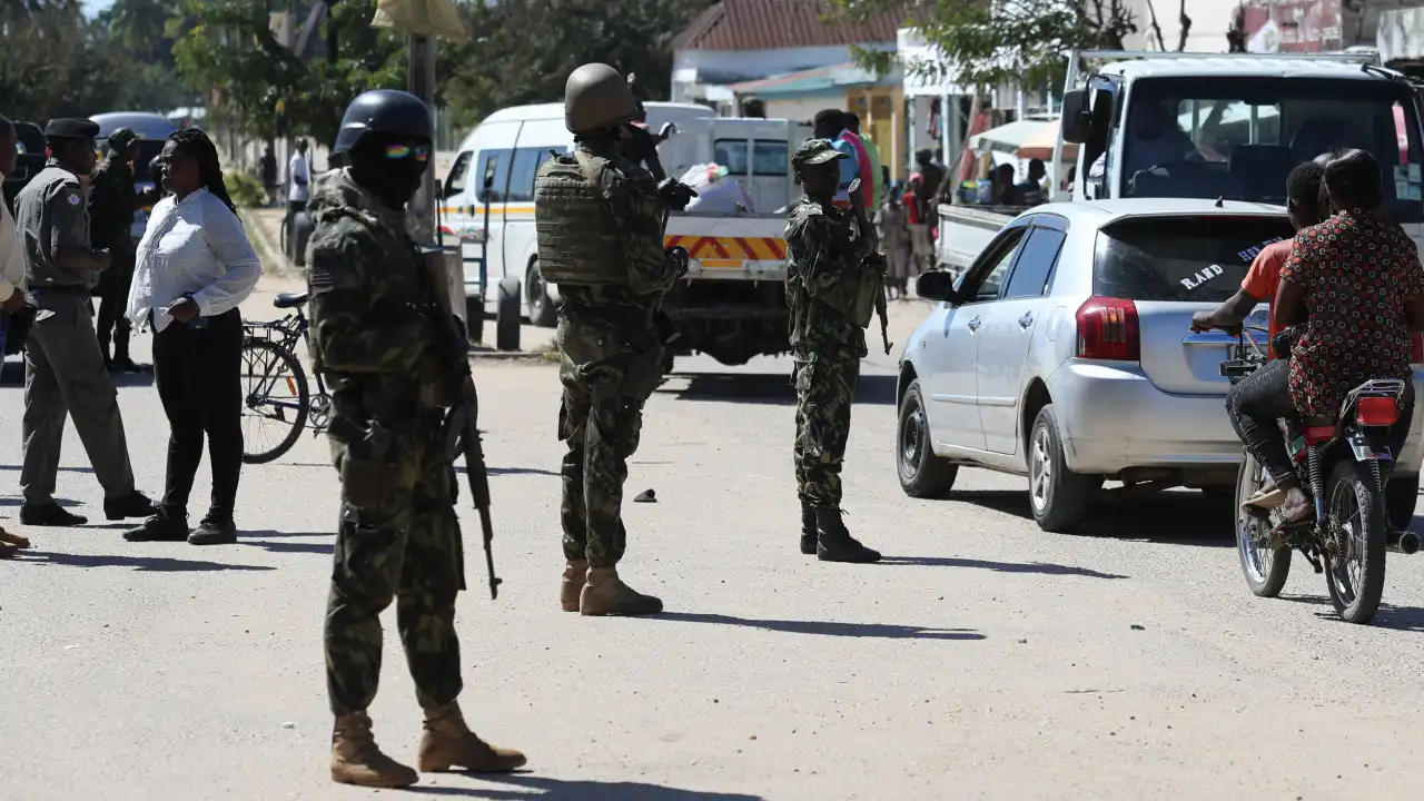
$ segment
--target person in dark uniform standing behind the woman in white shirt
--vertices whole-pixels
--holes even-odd
[[[104,363],[114,372],[135,372],[138,365],[128,358],[128,336],[132,325],[124,316],[128,284],[134,279],[134,212],[138,195],[134,190],[134,155],[138,135],[118,128],[108,137],[104,162],[94,168],[90,181],[88,212],[90,238],[95,248],[107,248],[114,264],[98,277],[98,346]],[[114,352],[108,343],[112,338]]]

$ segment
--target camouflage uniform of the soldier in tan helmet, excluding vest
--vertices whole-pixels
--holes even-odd
[[[662,221],[648,214],[661,205],[652,175],[614,151],[578,147],[608,160],[602,200],[627,249],[654,242],[661,251]],[[545,171],[540,170],[541,178]],[[638,449],[642,405],[661,378],[662,342],[654,315],[678,277],[669,261],[651,265],[629,258],[628,267],[625,285],[558,288],[562,302],[555,343],[564,385],[558,430],[568,446],[560,472],[564,556],[570,562],[587,557],[592,567],[612,567],[624,554],[622,485],[628,458]]]

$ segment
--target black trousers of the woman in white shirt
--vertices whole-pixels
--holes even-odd
[[[197,324],[197,325],[195,325]],[[188,495],[202,460],[212,466],[208,517],[229,522],[242,472],[242,315],[172,321],[154,335],[154,382],[168,416],[164,515],[188,515]]]

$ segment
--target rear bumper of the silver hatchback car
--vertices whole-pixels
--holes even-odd
[[[1424,398],[1424,372],[1414,373],[1415,398]],[[1077,473],[1115,476],[1134,467],[1210,470],[1235,467],[1242,442],[1226,416],[1222,395],[1172,395],[1158,389],[1132,362],[1069,359],[1049,376],[1058,408],[1064,458]],[[1424,402],[1400,459],[1401,472],[1417,473]]]

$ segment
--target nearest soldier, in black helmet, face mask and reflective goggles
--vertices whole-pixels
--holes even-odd
[[[414,95],[357,97],[333,148],[349,167],[323,175],[310,204],[312,361],[332,389],[328,433],[342,482],[325,636],[330,768],[332,780],[366,787],[417,780],[380,753],[366,714],[380,677],[379,616],[392,601],[426,714],[420,770],[524,764],[523,754],[476,737],[456,703],[464,563],[440,429],[470,365],[404,217],[431,137],[430,110]]]

